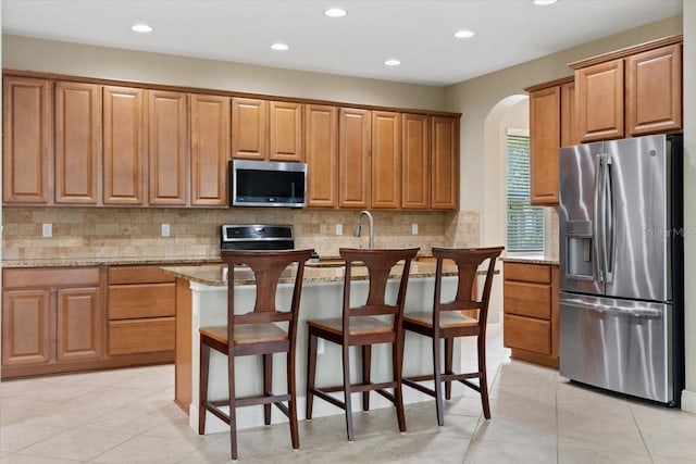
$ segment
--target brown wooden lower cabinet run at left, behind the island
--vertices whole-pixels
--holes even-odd
[[[171,363],[176,288],[157,265],[3,269],[3,379]]]

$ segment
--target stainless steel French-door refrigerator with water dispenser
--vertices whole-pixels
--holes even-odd
[[[682,136],[563,147],[559,155],[560,374],[676,406]]]

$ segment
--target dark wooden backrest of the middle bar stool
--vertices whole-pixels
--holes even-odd
[[[411,268],[411,260],[415,258],[419,248],[402,249],[351,249],[341,248],[338,250],[340,258],[346,260],[346,274],[344,280],[344,310],[343,327],[344,335],[349,334],[350,316],[377,316],[385,314],[395,315],[395,327],[400,327],[403,315],[403,303],[406,288]],[[399,290],[395,304],[386,302],[386,289],[391,269],[402,261],[402,268],[398,273]],[[368,269],[369,290],[364,304],[350,306],[350,287],[356,266],[364,264]],[[398,324],[398,325],[397,325]]]

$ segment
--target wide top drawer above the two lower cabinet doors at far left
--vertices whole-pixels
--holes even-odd
[[[99,267],[4,269],[3,288],[99,286]]]

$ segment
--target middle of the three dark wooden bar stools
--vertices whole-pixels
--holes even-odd
[[[406,415],[403,413],[403,397],[401,394],[401,362],[403,356],[403,330],[401,319],[403,316],[403,302],[406,287],[409,278],[411,260],[418,253],[418,248],[410,249],[345,249],[339,250],[340,258],[346,260],[346,274],[344,279],[343,315],[332,319],[308,321],[308,368],[307,368],[307,418],[312,418],[314,396],[346,411],[346,427],[348,441],[353,441],[352,406],[350,396],[353,392],[362,392],[362,409],[370,410],[370,391],[374,390],[396,406],[397,419],[400,431],[406,431]],[[386,300],[386,286],[391,268],[402,261],[399,273],[399,290],[396,303],[388,304]],[[355,285],[353,275],[358,273],[357,266],[362,263],[368,271],[369,293],[366,302],[360,306],[350,306],[350,289]],[[375,316],[391,316],[390,322]],[[316,373],[316,344],[318,339],[323,338],[340,344],[343,353],[343,379],[341,386],[318,388],[314,385]],[[372,344],[391,343],[393,380],[374,384],[370,380]],[[350,381],[350,347],[362,349],[362,381]],[[394,393],[386,391],[394,388]],[[344,401],[328,393],[343,391]]]

